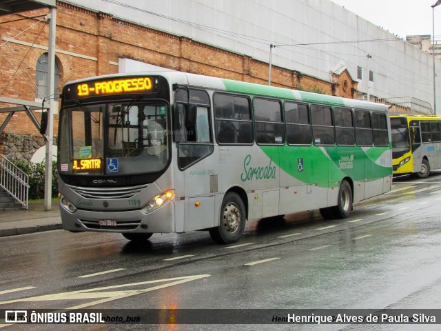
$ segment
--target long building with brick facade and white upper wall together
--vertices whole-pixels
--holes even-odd
[[[0,17],[0,97],[48,97],[45,14]],[[57,1],[56,48],[53,94],[73,79],[158,67],[267,84],[271,55],[273,86],[433,111],[431,54],[329,0]],[[10,159],[41,145],[22,113],[0,134]]]

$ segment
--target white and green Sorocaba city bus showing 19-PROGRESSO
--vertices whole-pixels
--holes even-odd
[[[345,218],[391,189],[390,132],[385,105],[298,90],[183,72],[73,81],[59,117],[63,228],[234,243],[247,220]]]

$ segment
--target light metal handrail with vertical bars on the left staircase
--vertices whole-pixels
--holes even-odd
[[[0,188],[28,209],[29,177],[3,154],[0,154]]]

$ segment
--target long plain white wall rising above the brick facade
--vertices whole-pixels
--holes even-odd
[[[433,105],[431,55],[329,0],[64,2],[247,54],[265,62],[269,62],[271,43],[291,45],[273,49],[274,65],[327,81],[331,81],[330,72],[340,66],[347,66],[353,79],[357,79],[357,67],[360,66],[363,77],[358,90],[361,92],[367,92],[369,54],[369,70],[374,74],[374,81],[370,83],[371,95],[381,98],[415,97]],[[380,41],[362,42],[378,39]],[[299,45],[304,43],[309,45]],[[436,68],[441,77],[441,61],[437,60]],[[438,82],[437,91],[441,92]],[[440,98],[437,104],[441,105]]]

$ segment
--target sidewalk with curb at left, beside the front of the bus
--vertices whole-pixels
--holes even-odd
[[[45,211],[44,204],[32,203],[28,210],[0,212],[0,237],[62,229],[58,203]]]

